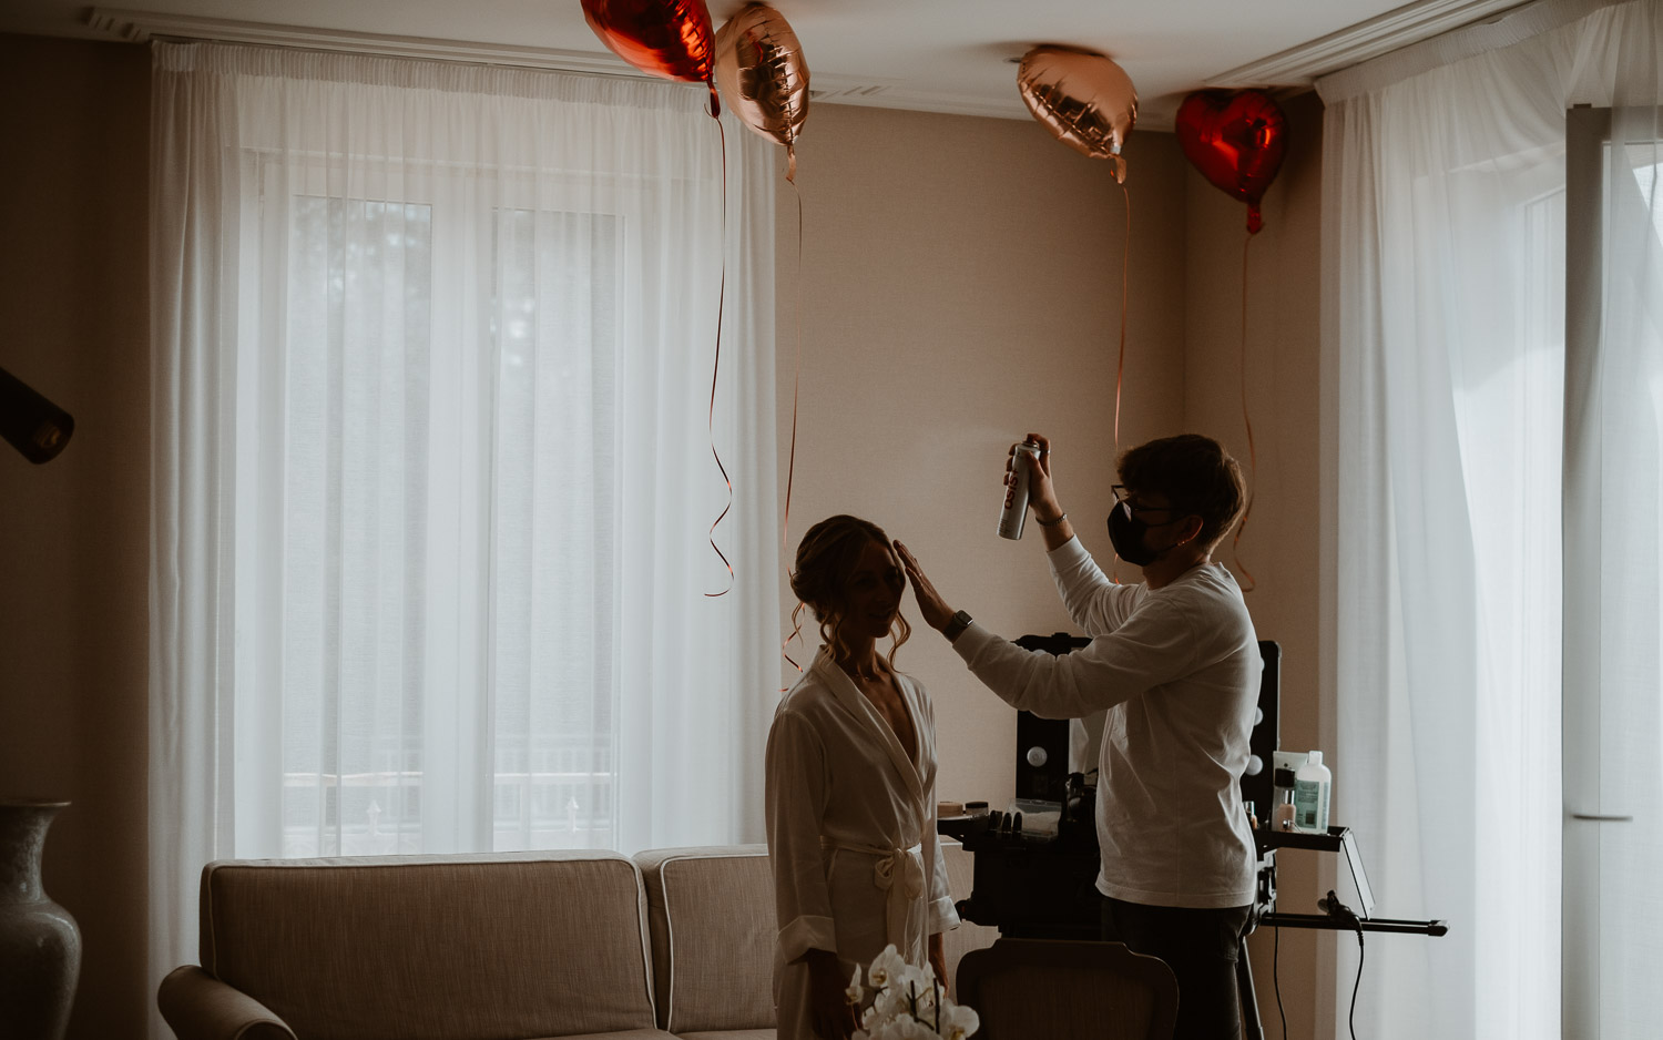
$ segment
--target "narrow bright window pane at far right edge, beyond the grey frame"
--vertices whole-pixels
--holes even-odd
[[[1567,120],[1565,1032],[1651,1030],[1663,895],[1660,111]]]

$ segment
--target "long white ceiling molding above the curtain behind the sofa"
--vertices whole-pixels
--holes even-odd
[[[101,7],[88,12],[86,25],[131,43],[146,43],[150,40],[211,40],[216,43],[303,47],[308,50],[343,50],[359,55],[474,62],[647,78],[645,73],[637,72],[610,52],[516,47],[511,43],[467,43],[461,40],[434,40],[431,37],[387,37],[336,28],[268,25],[263,22],[233,22],[228,18],[198,18],[193,15],[110,10]]]

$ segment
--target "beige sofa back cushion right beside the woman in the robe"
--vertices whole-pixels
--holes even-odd
[[[659,1025],[679,1037],[772,1037],[778,925],[768,847],[652,849],[635,862],[652,915]]]

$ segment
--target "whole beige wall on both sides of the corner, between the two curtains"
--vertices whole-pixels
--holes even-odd
[[[1106,166],[1038,123],[813,108],[798,150],[803,361],[792,542],[817,519],[856,513],[908,542],[943,594],[993,631],[1071,629],[1034,532],[1021,544],[993,532],[999,473],[1011,441],[1053,436],[1063,503],[1086,546],[1108,557],[1129,271],[1121,448],[1194,429],[1244,463],[1256,458],[1239,559],[1229,547],[1221,557],[1254,576],[1259,636],[1282,644],[1282,745],[1315,747],[1320,106],[1304,95],[1287,115],[1290,150],[1247,258],[1251,453],[1246,206],[1202,180],[1171,133],[1128,140],[1128,241],[1126,201]],[[778,215],[783,488],[798,281],[790,191]],[[793,602],[783,586],[782,596]],[[910,601],[906,614],[916,629]],[[935,697],[940,795],[1004,805],[1014,714],[928,629],[900,664]],[[1282,857],[1281,889],[1282,909],[1315,912],[1314,854]],[[1317,1015],[1317,935],[1289,930],[1281,942],[1294,1035],[1312,1035]],[[1279,1027],[1269,940],[1251,945],[1264,1018]]]

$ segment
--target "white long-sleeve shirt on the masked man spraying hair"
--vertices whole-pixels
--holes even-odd
[[[1098,890],[1156,907],[1254,900],[1241,800],[1264,664],[1241,587],[1221,564],[1151,591],[1111,582],[1079,539],[1048,554],[1091,646],[1024,651],[971,624],[953,649],[1011,707],[1049,719],[1108,709],[1098,757]]]

